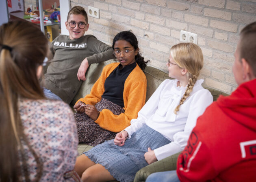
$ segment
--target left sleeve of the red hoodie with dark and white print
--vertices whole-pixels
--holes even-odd
[[[189,136],[187,146],[178,157],[177,174],[182,182],[207,181],[216,176],[210,150],[202,141],[196,127]]]

